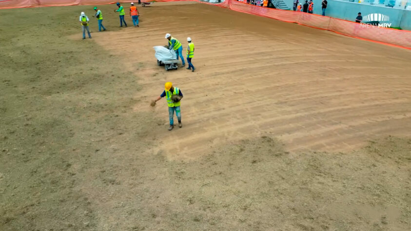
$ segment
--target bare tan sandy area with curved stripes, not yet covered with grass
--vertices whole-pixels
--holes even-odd
[[[139,8],[141,26],[94,36],[122,56],[142,86],[134,110],[164,125],[148,137],[153,152],[196,158],[255,136],[281,139],[292,151],[351,151],[368,139],[411,133],[411,52],[204,4]],[[165,23],[166,22],[166,23]],[[196,44],[196,72],[157,67],[153,46],[171,33]],[[121,41],[113,43],[113,41]],[[168,132],[165,81],[183,94],[183,129]],[[173,152],[168,152],[173,147]]]

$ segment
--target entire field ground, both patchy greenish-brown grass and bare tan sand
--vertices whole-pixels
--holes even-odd
[[[128,10],[128,3],[125,3]],[[0,10],[0,230],[411,230],[411,52],[193,2]],[[81,39],[78,16],[91,19]],[[153,46],[196,44],[166,72]],[[181,89],[167,131],[164,82]]]

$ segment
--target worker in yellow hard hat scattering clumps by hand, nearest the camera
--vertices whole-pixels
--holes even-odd
[[[177,100],[173,100],[172,96],[177,95]],[[168,105],[168,116],[170,119],[170,127],[168,131],[173,130],[174,128],[174,112],[176,112],[176,116],[178,119],[178,127],[181,128],[183,125],[181,124],[181,111],[180,111],[180,100],[183,98],[183,94],[181,93],[178,87],[173,87],[171,82],[166,82],[164,84],[164,91],[152,102],[152,106],[156,105],[156,102],[160,100],[162,97],[166,96],[167,105]]]

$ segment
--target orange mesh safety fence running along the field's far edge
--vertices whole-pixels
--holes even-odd
[[[132,1],[134,0],[126,0],[121,2]],[[115,1],[113,0],[0,0],[0,9],[41,6],[102,5],[114,2]],[[208,3],[203,1],[199,2]],[[382,28],[376,26],[363,27],[360,23],[356,23],[353,21],[335,19],[327,16],[308,14],[299,11],[279,10],[274,8],[254,6],[236,0],[225,0],[224,2],[218,4],[208,4],[229,8],[231,10],[247,14],[253,14],[286,22],[294,22],[300,25],[310,26],[313,28],[329,30],[341,35],[346,35],[357,39],[365,39],[373,42],[379,42],[383,44],[411,49],[411,31],[397,30],[392,28]]]

